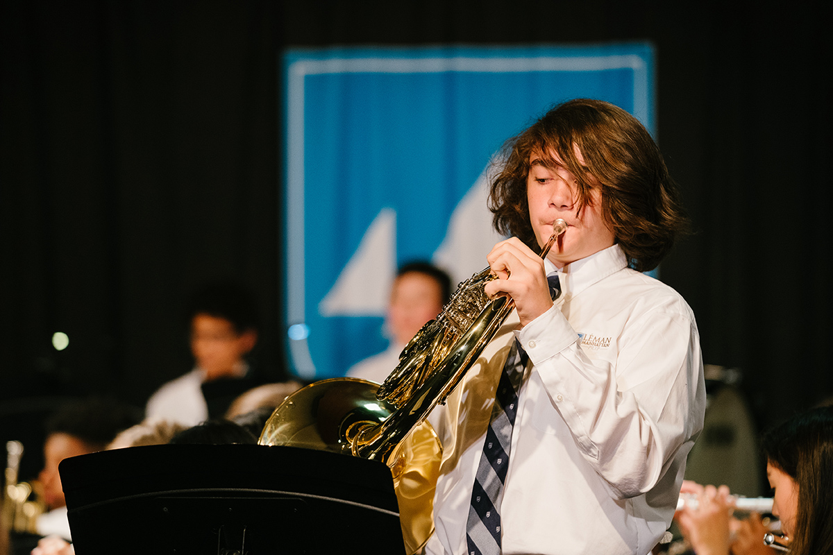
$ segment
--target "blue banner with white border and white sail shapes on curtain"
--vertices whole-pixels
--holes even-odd
[[[486,267],[501,239],[486,166],[549,107],[601,98],[654,133],[642,43],[328,48],[283,62],[287,334],[305,379],[341,376],[387,347],[398,265],[433,260],[455,283]]]

